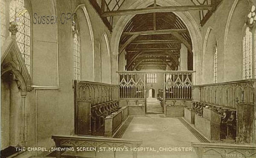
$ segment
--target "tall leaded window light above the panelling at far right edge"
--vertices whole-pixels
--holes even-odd
[[[243,78],[252,78],[252,33],[250,28],[247,27],[245,31],[245,36],[243,38]]]

